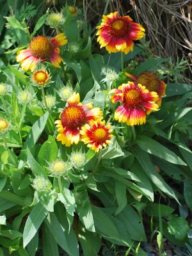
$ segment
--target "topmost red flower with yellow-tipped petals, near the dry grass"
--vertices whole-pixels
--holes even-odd
[[[102,18],[101,24],[97,26],[97,42],[100,48],[106,47],[109,53],[127,54],[133,50],[133,41],[145,35],[145,29],[140,24],[132,22],[129,16],[119,17],[118,12],[111,12]]]

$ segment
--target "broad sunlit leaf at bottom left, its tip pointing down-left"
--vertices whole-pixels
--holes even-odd
[[[24,227],[23,232],[23,247],[25,248],[26,245],[33,239],[38,228],[44,221],[45,217],[47,216],[48,211],[45,209],[44,205],[41,202],[35,205],[33,210],[28,216],[26,221],[26,225]]]

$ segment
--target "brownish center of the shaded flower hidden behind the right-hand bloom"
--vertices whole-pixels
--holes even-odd
[[[138,76],[137,83],[145,86],[149,92],[158,92],[159,81],[154,72],[144,72]]]

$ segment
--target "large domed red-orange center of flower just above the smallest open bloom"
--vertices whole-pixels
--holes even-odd
[[[85,118],[86,113],[82,106],[70,104],[61,113],[61,124],[67,128],[80,128],[84,124]]]

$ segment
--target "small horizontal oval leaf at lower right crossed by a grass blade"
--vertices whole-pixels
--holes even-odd
[[[150,216],[155,216],[158,217],[159,216],[159,208],[161,211],[161,216],[169,216],[170,214],[173,213],[173,211],[175,211],[175,209],[173,209],[172,207],[168,206],[168,205],[163,205],[163,204],[148,204],[147,207],[145,207],[145,212],[147,212],[147,214],[149,214]]]

